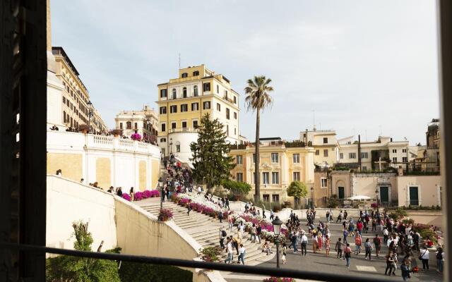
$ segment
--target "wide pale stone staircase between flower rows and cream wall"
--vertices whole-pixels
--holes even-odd
[[[160,210],[160,198],[149,198],[135,203],[139,207],[145,209],[145,211],[150,212],[150,214],[158,216]],[[218,219],[213,219],[210,216],[195,211],[191,211],[190,215],[187,216],[187,209],[185,207],[181,207],[178,204],[169,201],[163,202],[163,207],[171,209],[173,220],[177,226],[191,235],[191,237],[203,247],[220,246],[220,227],[225,228],[228,236],[237,235],[237,227],[234,226],[232,231],[230,231],[226,220],[223,220],[223,222],[220,223]],[[261,246],[263,245],[263,242],[260,244],[251,243],[249,233],[244,233],[242,244],[246,249],[245,264],[247,265],[260,264],[268,261],[274,256],[274,252],[273,255],[268,256],[262,252]],[[223,262],[226,258],[227,252],[224,251],[220,255],[220,262]],[[234,262],[237,262],[237,253],[235,249]]]

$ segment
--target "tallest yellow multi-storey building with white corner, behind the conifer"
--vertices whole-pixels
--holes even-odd
[[[162,153],[174,153],[190,163],[190,143],[197,140],[196,128],[205,114],[223,124],[227,141],[239,143],[239,94],[224,75],[204,65],[179,69],[179,77],[158,86],[159,130]]]

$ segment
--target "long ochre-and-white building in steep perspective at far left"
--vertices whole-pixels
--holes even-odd
[[[47,123],[61,130],[89,124],[95,133],[107,132],[107,125],[90,104],[88,89],[63,47],[52,47],[52,52],[47,52],[47,68]]]

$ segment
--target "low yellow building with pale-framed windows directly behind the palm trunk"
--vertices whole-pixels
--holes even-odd
[[[294,199],[287,196],[287,187],[295,180],[305,183],[310,192],[314,187],[314,149],[304,147],[300,142],[284,142],[280,137],[260,140],[261,200],[293,202]],[[254,150],[255,147],[249,144],[237,145],[230,152],[237,164],[231,171],[232,178],[251,185],[250,197],[254,195]]]

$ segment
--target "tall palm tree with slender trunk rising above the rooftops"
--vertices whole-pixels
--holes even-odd
[[[259,131],[261,123],[261,109],[273,104],[273,98],[268,92],[273,91],[270,86],[271,79],[265,76],[254,76],[253,79],[248,80],[248,86],[245,87],[245,103],[248,111],[256,111],[256,161],[254,162],[254,171],[256,171],[256,178],[254,181],[254,202],[261,200],[261,175],[259,173]]]

